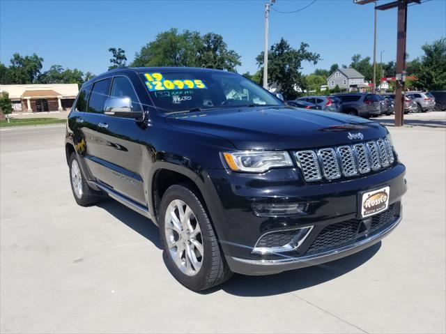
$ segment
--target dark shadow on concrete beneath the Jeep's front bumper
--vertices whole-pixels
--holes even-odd
[[[202,291],[210,294],[222,289],[228,294],[243,297],[260,297],[285,294],[333,280],[361,266],[373,257],[381,247],[381,242],[336,261],[311,266],[293,271],[284,271],[276,275],[245,276],[233,275],[233,278],[220,287]]]

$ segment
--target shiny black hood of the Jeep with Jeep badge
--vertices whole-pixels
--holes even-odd
[[[238,150],[308,149],[385,137],[378,123],[333,112],[292,107],[213,109],[171,114],[174,128],[229,140]]]

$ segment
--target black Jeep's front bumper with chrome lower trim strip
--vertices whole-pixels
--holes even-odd
[[[232,271],[247,275],[263,275],[311,266],[352,254],[378,242],[401,220],[401,197],[406,192],[405,167],[396,162],[381,172],[355,179],[308,184],[297,169],[272,169],[262,175],[241,174],[214,170],[210,181],[222,208],[213,215],[224,254]],[[366,190],[390,186],[390,206],[394,219],[367,238],[357,238],[341,247],[310,252],[318,234],[325,227],[359,221],[358,199]],[[265,217],[253,213],[254,203],[307,203],[302,215]],[[254,245],[261,236],[277,231],[314,228],[298,248],[289,252],[258,254]],[[389,229],[387,230],[387,227]],[[346,247],[344,247],[346,246]],[[309,255],[311,254],[311,255]]]

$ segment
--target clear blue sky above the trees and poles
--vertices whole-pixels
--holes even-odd
[[[390,0],[380,0],[387,3]],[[424,0],[423,0],[424,1]],[[265,0],[183,1],[5,1],[0,0],[0,61],[9,64],[14,52],[36,52],[52,64],[99,74],[109,66],[109,47],[121,47],[131,61],[142,45],[171,27],[220,33],[229,48],[242,56],[239,73],[257,66],[263,50]],[[277,0],[274,8],[291,11],[311,0]],[[270,45],[281,37],[294,47],[300,42],[321,54],[316,66],[304,73],[349,64],[356,53],[372,56],[373,4],[352,0],[318,0],[295,14],[270,14]],[[395,59],[397,11],[378,12],[378,61]],[[422,54],[421,46],[446,36],[446,0],[410,6],[407,51],[410,59]]]

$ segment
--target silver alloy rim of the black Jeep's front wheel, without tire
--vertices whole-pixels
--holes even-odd
[[[180,199],[167,206],[164,233],[176,266],[185,275],[196,275],[203,263],[203,238],[194,212]]]

